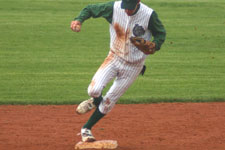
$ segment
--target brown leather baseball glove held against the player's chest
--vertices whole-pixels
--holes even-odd
[[[145,53],[146,55],[155,53],[155,43],[146,41],[140,37],[131,37],[130,41],[134,46],[136,46],[140,51]]]

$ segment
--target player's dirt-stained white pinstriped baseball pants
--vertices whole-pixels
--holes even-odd
[[[101,113],[107,114],[112,110],[118,99],[138,77],[143,64],[144,61],[136,64],[127,63],[112,52],[109,53],[88,87],[89,96],[97,98],[107,83],[115,79],[99,105]]]

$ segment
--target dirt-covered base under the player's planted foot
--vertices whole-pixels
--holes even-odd
[[[88,150],[88,149],[111,150],[111,149],[116,149],[117,147],[118,147],[117,141],[101,140],[101,141],[95,141],[95,142],[78,142],[75,145],[75,150]]]

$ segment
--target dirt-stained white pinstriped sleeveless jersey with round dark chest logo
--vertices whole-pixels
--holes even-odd
[[[115,2],[110,25],[110,48],[115,55],[131,63],[144,61],[146,55],[130,42],[130,37],[151,39],[148,23],[152,11],[151,8],[140,3],[138,12],[133,16],[128,16],[124,9],[121,9],[121,1]]]

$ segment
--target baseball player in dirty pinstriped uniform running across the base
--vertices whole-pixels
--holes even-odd
[[[96,108],[81,128],[83,142],[95,141],[91,128],[112,110],[142,71],[146,57],[158,51],[166,37],[157,13],[140,0],[88,5],[71,22],[71,29],[80,32],[82,23],[90,17],[103,17],[110,23],[110,50],[88,87],[91,98],[76,109],[78,114],[85,114]],[[102,90],[113,79],[103,96]]]

